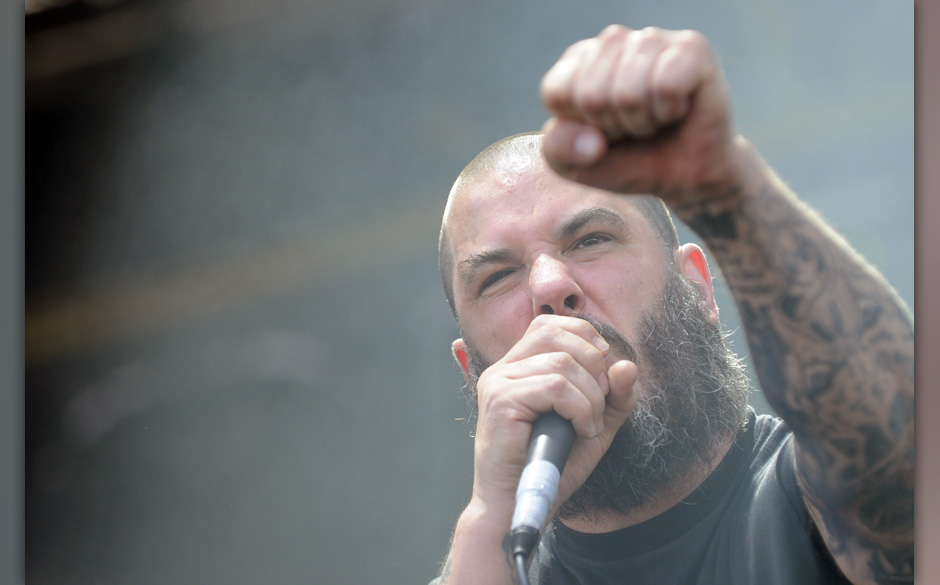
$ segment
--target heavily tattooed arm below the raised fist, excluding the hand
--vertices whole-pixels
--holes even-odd
[[[674,211],[721,267],[768,402],[794,430],[804,493],[830,548],[898,552],[833,550],[856,557],[840,559],[843,568],[897,577],[912,562],[903,558],[913,542],[911,315],[746,142],[737,148],[735,188]]]

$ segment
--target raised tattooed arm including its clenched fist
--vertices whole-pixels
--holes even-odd
[[[768,401],[796,439],[804,500],[854,583],[913,580],[914,337],[884,279],[731,124],[691,31],[609,27],[542,81],[560,174],[654,193],[721,266]]]

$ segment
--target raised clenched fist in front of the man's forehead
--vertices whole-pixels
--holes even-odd
[[[740,182],[727,84],[699,33],[607,27],[564,52],[541,94],[544,156],[563,176],[669,204]]]

